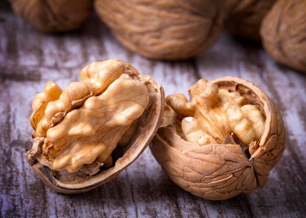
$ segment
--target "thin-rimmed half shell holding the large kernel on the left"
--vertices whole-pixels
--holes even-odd
[[[119,62],[122,63],[121,61]],[[40,163],[37,156],[29,155],[30,150],[32,151],[34,148],[33,141],[29,140],[26,142],[25,149],[28,152],[28,155],[26,155],[27,162],[42,181],[52,190],[65,194],[83,193],[116,178],[143,153],[153,139],[153,136],[160,126],[164,112],[165,96],[163,87],[160,84],[156,84],[150,76],[146,75],[142,77],[131,65],[128,65],[128,67],[135,70],[133,73],[142,78],[142,83],[147,87],[149,92],[149,104],[137,119],[137,128],[130,137],[130,141],[124,147],[118,145],[111,153],[113,164],[110,168],[100,169],[96,174],[83,175],[77,180],[74,180],[75,177],[72,180],[67,180],[66,178],[69,179],[71,177],[71,174],[67,171],[63,176],[61,172],[54,171]],[[44,143],[44,138],[40,138],[39,141]],[[41,147],[37,150],[39,149]],[[73,176],[75,174],[72,174]]]

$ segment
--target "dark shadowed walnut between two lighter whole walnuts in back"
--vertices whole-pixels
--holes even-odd
[[[233,35],[260,41],[260,25],[275,0],[226,0],[225,28]]]

